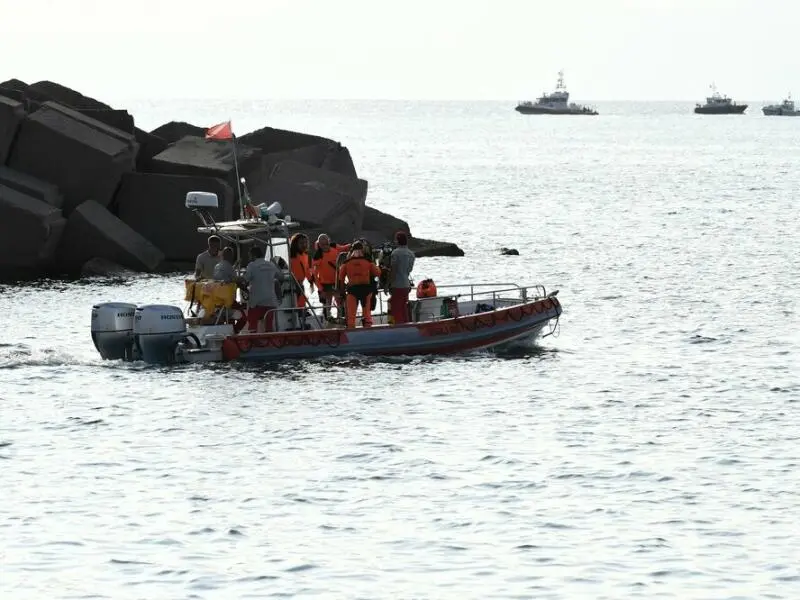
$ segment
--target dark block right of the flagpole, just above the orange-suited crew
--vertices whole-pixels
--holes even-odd
[[[254,204],[280,202],[283,213],[305,227],[323,227],[335,239],[351,240],[361,231],[367,182],[283,161],[251,188],[251,196]]]

